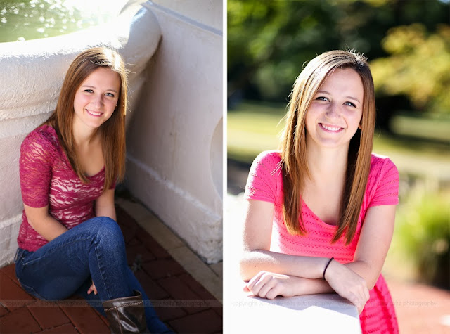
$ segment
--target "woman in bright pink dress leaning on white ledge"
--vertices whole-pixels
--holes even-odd
[[[397,333],[380,271],[394,228],[399,175],[372,154],[373,79],[364,56],[329,51],[295,81],[280,151],[261,153],[248,199],[240,273],[259,297],[335,292],[363,333]]]

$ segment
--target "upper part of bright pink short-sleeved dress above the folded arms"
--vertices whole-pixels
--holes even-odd
[[[381,155],[371,155],[366,193],[359,214],[353,240],[345,245],[345,236],[331,243],[337,226],[326,224],[302,203],[302,218],[307,233],[293,236],[283,219],[283,177],[279,167],[281,155],[277,151],[265,151],[257,156],[250,168],[245,198],[274,203],[271,251],[290,255],[335,257],[341,263],[352,262],[361,233],[361,226],[369,207],[396,205],[399,203],[399,173],[394,163]]]

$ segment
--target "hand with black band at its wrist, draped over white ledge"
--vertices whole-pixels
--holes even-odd
[[[325,279],[338,295],[354,304],[359,314],[361,314],[364,305],[370,297],[364,278],[356,274],[352,269],[333,260],[326,270]]]

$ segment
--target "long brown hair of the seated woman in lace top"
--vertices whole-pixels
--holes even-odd
[[[120,76],[120,94],[113,115],[97,129],[100,131],[103,158],[105,159],[105,184],[108,190],[115,181],[123,179],[125,172],[125,114],[127,113],[127,70],[122,56],[104,47],[88,49],[80,53],[68,69],[61,88],[56,110],[49,124],[56,130],[61,146],[67,154],[70,165],[79,178],[88,183],[75,149],[73,135],[74,100],[77,89],[84,79],[98,68],[110,68]]]

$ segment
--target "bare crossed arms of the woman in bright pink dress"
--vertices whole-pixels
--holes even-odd
[[[249,281],[245,290],[259,297],[290,297],[335,291],[361,313],[378,280],[394,229],[395,205],[371,207],[366,213],[354,262],[328,263],[326,257],[301,257],[270,251],[274,204],[248,201],[243,230],[240,275]]]

